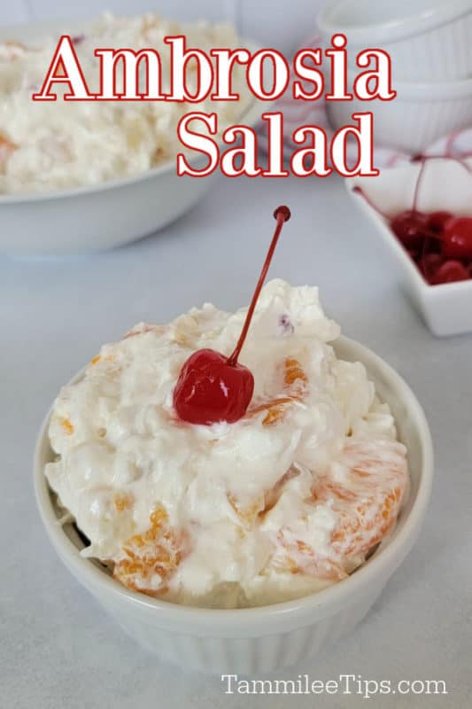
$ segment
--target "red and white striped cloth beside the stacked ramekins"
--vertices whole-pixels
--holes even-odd
[[[320,47],[321,36],[312,36],[303,47]],[[299,101],[291,96],[291,84],[297,77],[292,74],[290,78],[290,89],[286,94],[275,102],[271,107],[271,111],[280,111],[283,113],[283,151],[286,158],[290,158],[292,152],[300,148],[300,145],[293,143],[291,136],[294,130],[304,125],[315,125],[324,129],[329,138],[334,135],[335,129],[329,124],[328,114],[326,112],[326,103],[321,98],[318,101]],[[259,129],[259,146],[267,152],[267,133],[265,128]],[[352,163],[357,160],[357,146],[347,146],[347,161],[349,164],[350,153]],[[472,121],[471,127],[460,131],[455,131],[449,136],[445,136],[431,144],[424,151],[424,154],[441,155],[445,158],[452,157],[472,157]],[[385,145],[375,144],[375,167],[376,168],[393,168],[402,162],[407,162],[413,157],[412,154],[401,152],[395,148],[389,148]]]

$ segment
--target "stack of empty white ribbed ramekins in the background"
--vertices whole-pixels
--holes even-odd
[[[422,152],[437,138],[472,128],[472,0],[329,0],[318,16],[325,43],[348,39],[348,85],[365,71],[358,52],[380,48],[391,56],[393,101],[335,101],[337,127],[354,112],[374,113],[375,141]]]

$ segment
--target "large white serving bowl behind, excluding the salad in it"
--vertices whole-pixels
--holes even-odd
[[[80,33],[85,22],[41,23],[1,27],[0,40],[31,41],[60,34],[64,27]],[[255,45],[241,40],[251,51]],[[246,126],[259,121],[261,104],[253,100],[238,118]],[[33,102],[32,102],[33,110]],[[263,109],[268,110],[267,102]],[[192,158],[194,168],[205,158]],[[189,211],[219,176],[179,177],[169,160],[135,177],[41,194],[0,195],[0,253],[92,253],[127,244],[158,231]]]

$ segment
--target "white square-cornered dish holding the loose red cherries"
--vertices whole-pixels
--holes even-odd
[[[472,160],[468,160],[472,168]],[[375,224],[379,237],[391,251],[406,291],[424,321],[437,336],[472,331],[472,280],[429,285],[414,261],[391,231],[388,223],[352,188],[360,185],[386,214],[398,214],[413,206],[420,166],[409,164],[384,169],[378,177],[352,178],[346,186],[356,204]],[[424,173],[418,207],[425,212],[446,210],[472,216],[472,175],[453,160],[430,160]]]

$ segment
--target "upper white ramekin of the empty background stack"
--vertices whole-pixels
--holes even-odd
[[[395,82],[472,75],[472,0],[331,0],[318,26],[325,41],[336,32],[347,36],[352,65],[368,47],[388,51]]]

